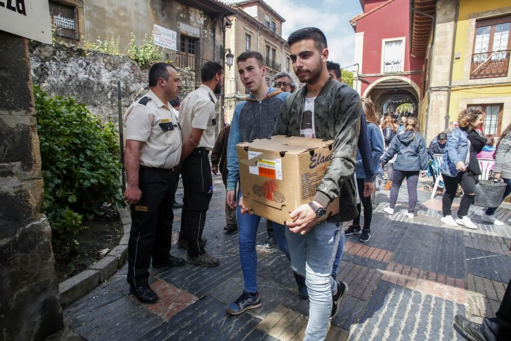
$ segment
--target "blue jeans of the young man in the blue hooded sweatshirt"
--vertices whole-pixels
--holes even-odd
[[[238,202],[240,200],[238,196]],[[243,271],[243,280],[245,290],[248,292],[257,292],[257,253],[255,252],[255,237],[261,217],[255,214],[241,214],[241,208],[236,209],[236,218],[238,219],[238,245],[240,247],[240,263]],[[273,234],[278,248],[289,257],[289,247],[284,234],[288,230],[284,225],[271,222],[273,225]]]

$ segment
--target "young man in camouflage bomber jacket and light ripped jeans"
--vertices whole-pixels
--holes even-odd
[[[274,135],[334,140],[331,162],[314,199],[295,209],[287,221],[291,267],[306,276],[309,322],[306,339],[323,340],[329,318],[347,289],[330,276],[341,235],[341,221],[358,214],[353,177],[362,107],[357,92],[333,80],[327,70],[327,39],[317,28],[304,28],[288,38],[294,73],[306,85],[280,109]],[[319,221],[340,199],[339,213]]]

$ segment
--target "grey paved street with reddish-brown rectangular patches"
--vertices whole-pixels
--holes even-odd
[[[476,321],[494,316],[511,277],[510,206],[503,204],[496,213],[505,226],[481,223],[481,211],[474,207],[471,218],[479,228],[468,230],[440,222],[441,195],[430,200],[431,192],[420,188],[417,216],[411,220],[402,214],[406,188],[393,216],[383,212],[388,194],[377,192],[369,242],[359,242],[358,235],[346,237],[338,279],[350,291],[327,339],[461,339],[452,327],[454,315]],[[225,312],[241,293],[243,277],[237,234],[223,231],[224,195],[221,178],[214,177],[204,237],[207,252],[220,258],[220,266],[150,269],[151,286],[160,297],[155,305],[129,295],[125,266],[64,309],[69,327],[88,340],[303,339],[308,301],[298,298],[284,254],[264,248],[264,219],[257,236],[263,305],[239,316]],[[178,201],[181,196],[180,191]],[[180,210],[175,211],[174,243],[180,219]],[[172,254],[185,257],[177,245]]]

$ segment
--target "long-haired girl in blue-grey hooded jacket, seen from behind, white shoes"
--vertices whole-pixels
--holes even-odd
[[[428,168],[428,150],[424,138],[417,131],[417,119],[409,117],[405,121],[405,130],[398,134],[382,157],[382,166],[394,156],[394,173],[392,175],[392,187],[390,188],[389,207],[383,209],[385,213],[394,214],[394,206],[398,200],[399,189],[406,177],[408,189],[408,212],[405,215],[413,219],[415,204],[417,203],[417,182],[419,172]]]

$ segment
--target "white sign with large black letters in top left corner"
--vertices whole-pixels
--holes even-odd
[[[51,44],[52,25],[48,1],[0,1],[0,30]]]

